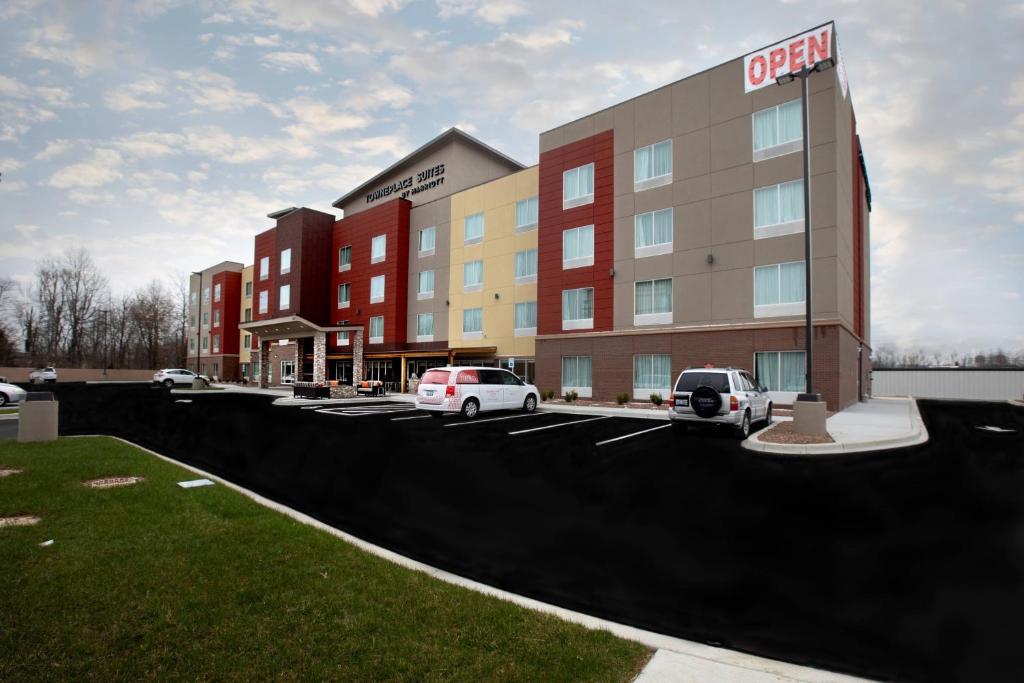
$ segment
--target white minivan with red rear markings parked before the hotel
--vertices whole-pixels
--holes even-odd
[[[416,407],[435,418],[462,413],[475,418],[481,411],[537,410],[541,392],[501,368],[433,368],[423,374]]]

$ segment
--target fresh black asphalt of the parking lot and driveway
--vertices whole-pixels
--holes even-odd
[[[122,436],[546,602],[871,678],[1024,680],[1024,409],[1009,403],[921,401],[926,444],[793,458],[641,419],[55,390],[65,434]]]

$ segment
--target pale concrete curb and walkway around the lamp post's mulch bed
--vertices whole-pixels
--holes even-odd
[[[825,429],[835,443],[770,443],[761,440],[769,427],[743,441],[743,447],[763,453],[827,455],[862,453],[916,445],[928,440],[928,430],[912,398],[869,398],[828,418]]]

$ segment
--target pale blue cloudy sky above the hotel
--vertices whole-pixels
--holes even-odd
[[[828,19],[876,347],[1024,347],[1020,0],[0,0],[0,275],[249,262],[267,212],[336,213],[449,126],[532,164],[539,131]]]

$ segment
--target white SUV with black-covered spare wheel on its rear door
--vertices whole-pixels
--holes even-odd
[[[680,428],[688,423],[726,425],[746,438],[751,423],[771,424],[768,389],[745,370],[687,368],[676,380],[669,401],[669,420]]]

